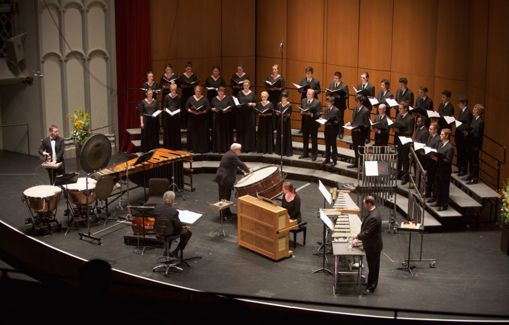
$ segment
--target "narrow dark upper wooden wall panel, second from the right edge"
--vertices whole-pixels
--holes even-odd
[[[468,81],[477,88],[486,89],[488,6],[485,0],[471,0],[470,7]]]

